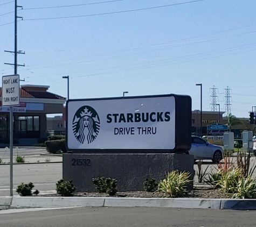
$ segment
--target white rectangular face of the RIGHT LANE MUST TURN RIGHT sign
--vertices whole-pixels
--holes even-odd
[[[19,105],[19,75],[3,76],[2,105]]]

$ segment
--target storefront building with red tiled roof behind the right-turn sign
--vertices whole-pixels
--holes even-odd
[[[20,105],[13,107],[13,138],[18,144],[33,145],[47,137],[46,114],[63,114],[66,98],[47,91],[50,86],[20,86]],[[2,88],[0,88],[2,100]],[[0,143],[10,138],[9,107],[0,103]]]

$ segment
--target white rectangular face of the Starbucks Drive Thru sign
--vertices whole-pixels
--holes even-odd
[[[175,97],[67,103],[69,149],[174,149]]]

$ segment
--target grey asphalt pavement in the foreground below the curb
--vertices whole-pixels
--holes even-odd
[[[178,208],[65,208],[0,211],[8,227],[254,227],[256,211]]]

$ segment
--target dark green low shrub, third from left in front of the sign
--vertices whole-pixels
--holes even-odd
[[[93,183],[96,186],[96,190],[99,193],[107,193],[109,195],[115,195],[117,191],[117,180],[115,178],[93,178]]]

